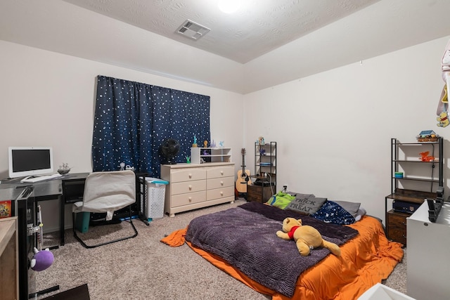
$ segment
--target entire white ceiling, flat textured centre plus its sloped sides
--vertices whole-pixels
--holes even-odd
[[[0,0],[0,40],[246,94],[450,36],[450,0],[242,2]],[[186,19],[211,31],[177,35]]]

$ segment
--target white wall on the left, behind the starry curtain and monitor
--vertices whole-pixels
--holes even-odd
[[[8,146],[13,145],[52,146],[56,167],[67,162],[74,173],[92,170],[98,74],[210,96],[211,137],[238,149],[232,155],[240,154],[243,96],[238,93],[6,41],[0,41],[0,66],[0,178],[8,177]],[[42,203],[46,228],[58,227],[54,202]],[[66,214],[66,226],[70,226],[69,205]]]

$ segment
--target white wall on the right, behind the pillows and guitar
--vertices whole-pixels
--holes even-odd
[[[390,138],[416,141],[432,129],[444,143],[449,195],[449,128],[436,108],[448,38],[388,53],[245,96],[245,147],[278,143],[278,189],[361,202],[384,217],[390,193]],[[332,49],[330,55],[333,55]],[[252,170],[255,171],[255,170]]]

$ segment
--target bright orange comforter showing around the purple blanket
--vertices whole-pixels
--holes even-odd
[[[316,266],[305,270],[299,276],[295,294],[290,299],[356,299],[375,283],[387,278],[403,258],[401,244],[389,242],[380,222],[373,217],[364,216],[349,226],[358,230],[359,235],[340,246],[340,257],[328,255]],[[172,247],[180,246],[185,242],[185,235],[186,229],[176,230],[161,241]],[[214,266],[252,289],[271,295],[273,300],[289,299],[259,285],[219,256],[186,243]]]

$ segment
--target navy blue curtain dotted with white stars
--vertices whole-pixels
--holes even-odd
[[[180,143],[175,162],[191,156],[193,140],[210,141],[210,96],[98,75],[92,138],[94,171],[120,163],[160,177],[166,138]]]

